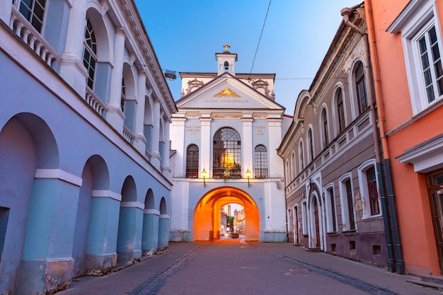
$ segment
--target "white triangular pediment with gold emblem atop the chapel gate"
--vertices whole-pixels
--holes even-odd
[[[231,75],[217,77],[178,100],[176,105],[177,108],[192,109],[283,109],[278,103]]]

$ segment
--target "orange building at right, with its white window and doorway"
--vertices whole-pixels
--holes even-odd
[[[367,0],[365,10],[405,271],[442,274],[443,0]]]

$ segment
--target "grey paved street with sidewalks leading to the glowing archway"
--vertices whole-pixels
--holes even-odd
[[[233,279],[229,279],[229,282],[234,282],[234,284],[229,282],[221,284],[219,282],[224,282],[224,279],[229,277],[229,274],[226,275],[226,270],[228,272],[234,272],[234,270],[228,270],[229,267],[224,267],[226,262],[222,260],[223,258],[219,258],[219,256],[232,255],[231,259],[235,259],[236,262],[242,260],[242,256],[234,256],[238,248],[250,249],[247,252],[242,252],[244,253],[245,261],[249,259],[248,263],[251,263],[251,261],[255,260],[256,265],[264,266],[261,267],[260,270],[258,270],[258,267],[251,267],[246,277],[243,277],[243,282],[244,280],[253,281],[253,279],[256,279],[257,282],[252,282],[252,286],[253,284],[263,284],[259,289],[260,294],[289,294],[287,293],[289,292],[287,289],[277,291],[279,290],[278,287],[284,284],[284,281],[280,282],[280,277],[284,277],[284,275],[276,274],[275,268],[272,269],[272,273],[270,272],[271,266],[275,266],[276,263],[279,264],[277,267],[280,268],[283,267],[283,265],[284,267],[292,265],[289,267],[292,267],[296,272],[309,272],[309,276],[300,277],[302,281],[297,281],[297,284],[294,283],[290,285],[290,288],[294,289],[294,291],[299,290],[298,292],[291,292],[290,294],[314,294],[309,291],[308,284],[306,284],[306,286],[301,285],[301,283],[309,282],[309,279],[313,280],[310,286],[312,286],[312,284],[318,285],[320,283],[323,284],[323,282],[325,283],[325,287],[322,289],[323,291],[317,290],[315,294],[440,294],[433,289],[423,288],[417,284],[408,282],[409,280],[415,279],[413,276],[393,274],[380,267],[364,265],[360,262],[326,253],[308,252],[305,248],[294,246],[291,243],[243,243],[240,245],[225,245],[224,248],[222,248],[221,244],[223,243],[238,244],[240,242],[229,238],[214,242],[213,244],[204,242],[169,243],[168,250],[165,253],[156,255],[154,258],[144,259],[142,262],[126,267],[118,272],[113,272],[104,277],[76,278],[74,282],[69,285],[67,291],[58,292],[57,295],[209,295],[224,294],[225,292],[252,294],[248,292],[248,289],[241,289],[239,284],[237,284],[237,287],[233,287],[236,286]],[[218,248],[215,245],[219,245]],[[267,270],[266,267],[267,263],[269,264],[269,270]],[[221,265],[219,271],[214,272],[214,267],[207,267],[207,265],[211,264]],[[294,264],[298,266],[294,266]],[[259,273],[259,271],[262,273]],[[263,272],[266,271],[269,273],[264,274]],[[270,277],[272,278],[270,279]],[[268,279],[271,280],[271,284],[267,282]],[[214,282],[217,282],[217,284]],[[251,284],[251,282],[249,283]],[[270,286],[272,284],[275,284],[275,287]],[[329,285],[327,286],[326,284]],[[219,287],[217,290],[211,289],[212,286],[216,285],[226,285],[226,289],[220,290]],[[251,285],[249,286],[251,289]],[[340,286],[339,289],[333,289],[336,286]],[[354,287],[356,287],[356,289],[354,289]],[[374,287],[374,289],[371,289],[372,287]],[[275,292],[270,290],[275,290]],[[346,291],[340,293],[340,290]],[[255,294],[257,293],[255,292]]]

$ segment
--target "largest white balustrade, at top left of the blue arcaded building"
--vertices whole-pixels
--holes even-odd
[[[14,6],[12,6],[9,28],[49,66],[54,59],[61,61],[59,54]]]

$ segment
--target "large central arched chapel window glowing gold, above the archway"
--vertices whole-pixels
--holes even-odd
[[[241,178],[241,138],[236,130],[223,127],[214,134],[212,175]]]

